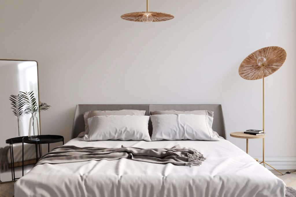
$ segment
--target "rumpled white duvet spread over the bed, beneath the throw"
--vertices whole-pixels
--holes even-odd
[[[15,196],[284,197],[285,183],[229,141],[81,141],[79,147],[192,147],[207,158],[200,166],[119,159],[33,167],[15,183]]]

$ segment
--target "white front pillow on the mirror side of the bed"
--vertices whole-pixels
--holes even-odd
[[[88,120],[89,133],[83,141],[146,140],[151,141],[147,115],[102,115]]]

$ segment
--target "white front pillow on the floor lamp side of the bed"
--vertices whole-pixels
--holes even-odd
[[[219,141],[212,129],[213,117],[194,114],[150,115],[152,141],[157,140],[208,140]]]

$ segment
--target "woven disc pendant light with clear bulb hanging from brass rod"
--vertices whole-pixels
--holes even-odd
[[[122,19],[136,22],[160,22],[173,19],[174,16],[167,13],[162,12],[148,12],[148,0],[147,0],[147,9],[146,12],[132,12],[128,14],[121,15]]]

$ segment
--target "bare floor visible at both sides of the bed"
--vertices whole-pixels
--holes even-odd
[[[280,170],[283,174],[287,171],[295,171],[295,170]],[[291,174],[280,175],[279,172],[275,170],[271,170],[277,177],[283,180],[288,187],[292,187],[296,189],[296,172],[292,172]],[[1,197],[11,197],[14,194],[14,183],[3,183],[0,184],[0,196]]]

